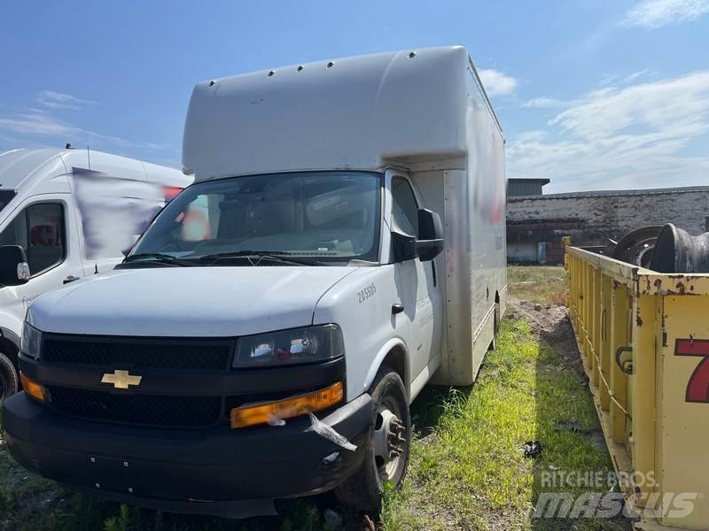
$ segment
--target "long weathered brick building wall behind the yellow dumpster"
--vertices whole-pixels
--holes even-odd
[[[546,242],[547,261],[555,263],[563,259],[565,235],[576,245],[604,245],[635,228],[666,223],[698,235],[705,232],[706,216],[709,187],[510,197],[507,242],[511,250],[518,243]]]

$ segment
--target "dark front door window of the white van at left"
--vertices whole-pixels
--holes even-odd
[[[35,275],[64,260],[64,227],[61,204],[32,204],[0,233],[0,245],[21,246],[27,255],[29,270]]]

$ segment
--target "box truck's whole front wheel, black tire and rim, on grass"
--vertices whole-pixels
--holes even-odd
[[[335,495],[340,502],[357,511],[379,512],[385,482],[393,485],[393,489],[400,489],[406,476],[411,418],[406,389],[399,374],[392,369],[379,369],[371,384],[370,394],[372,423],[362,466],[339,484]],[[388,462],[382,457],[387,450],[392,452]]]

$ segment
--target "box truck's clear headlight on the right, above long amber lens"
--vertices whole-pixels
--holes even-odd
[[[338,358],[344,354],[342,332],[337,325],[292,328],[240,337],[232,366],[292,365]]]

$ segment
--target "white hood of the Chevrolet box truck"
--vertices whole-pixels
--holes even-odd
[[[356,267],[158,267],[112,271],[43,295],[27,320],[44,332],[211,336],[304,327]]]

